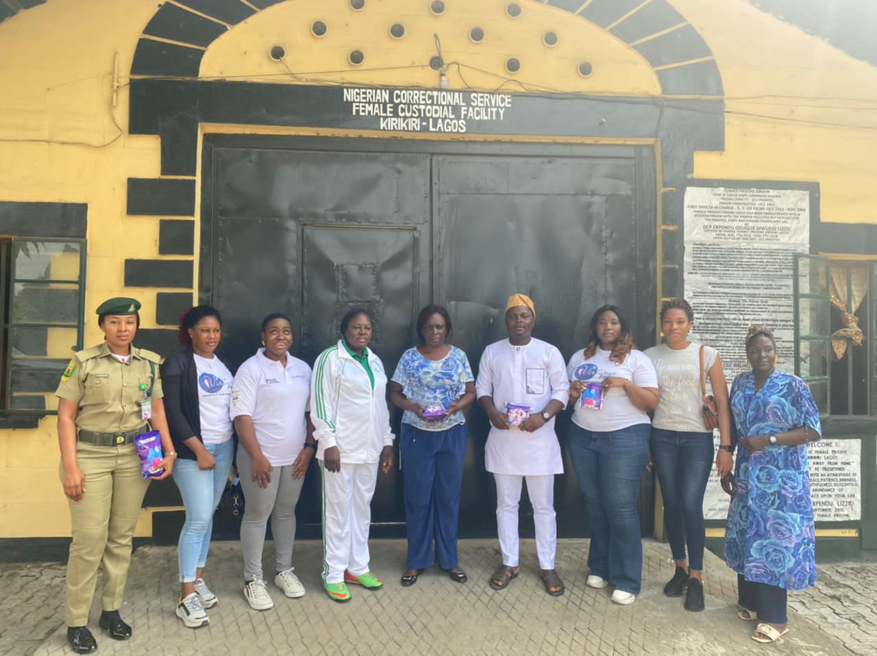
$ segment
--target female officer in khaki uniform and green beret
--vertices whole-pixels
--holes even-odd
[[[132,346],[140,303],[111,298],[97,308],[104,342],[76,353],[55,395],[61,482],[70,503],[73,544],[67,563],[67,639],[76,653],[94,652],[86,624],[103,561],[100,627],[111,638],[131,638],[118,615],[131,564],[131,544],[148,480],[140,470],[134,437],[161,433],[167,478],[176,453],[161,402],[160,356]],[[148,421],[148,424],[147,424]]]

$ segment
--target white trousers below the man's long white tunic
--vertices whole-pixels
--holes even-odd
[[[517,507],[521,501],[521,488],[527,480],[527,496],[533,507],[533,523],[536,525],[536,553],[540,569],[554,569],[557,551],[557,516],[554,513],[554,475],[515,476],[494,474],[496,480],[496,529],[499,547],[503,552],[503,565],[518,567],[519,540],[517,533]]]

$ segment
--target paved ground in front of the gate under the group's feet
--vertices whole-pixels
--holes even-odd
[[[819,567],[820,584],[789,595],[790,627],[781,643],[757,645],[752,624],[735,616],[735,576],[708,553],[707,609],[688,613],[681,599],[661,593],[672,576],[667,546],[644,541],[644,588],[637,603],[610,603],[609,590],[585,586],[586,541],[561,540],[558,570],[567,594],[546,595],[538,581],[535,545],[525,540],[522,573],[510,588],[488,588],[499,563],[494,540],[460,543],[469,581],[450,581],[438,568],[417,585],[402,588],[405,543],[374,540],[372,565],[387,585],[377,592],[353,589],[350,603],[333,603],[320,588],[322,547],[299,542],[296,563],[308,594],[286,599],[269,583],[275,609],[250,610],[240,592],[236,542],[212,546],[208,582],[219,595],[210,626],[186,629],[174,616],[176,551],[148,546],[134,553],[122,616],[134,626],[129,642],[117,643],[91,627],[102,654],[797,654],[877,656],[877,563]],[[272,547],[266,548],[266,571]],[[68,654],[63,623],[64,567],[0,565],[0,653]],[[854,586],[853,587],[853,581]],[[864,592],[863,592],[864,591]],[[864,596],[863,596],[864,595]],[[96,595],[99,603],[99,595]]]

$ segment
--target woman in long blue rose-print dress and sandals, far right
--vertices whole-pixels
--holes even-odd
[[[738,574],[738,617],[759,621],[752,639],[771,643],[788,632],[787,590],[816,585],[807,445],[822,427],[804,381],[774,368],[772,331],[752,326],[746,356],[752,371],[731,386],[741,448],[722,481],[731,494],[724,557]]]

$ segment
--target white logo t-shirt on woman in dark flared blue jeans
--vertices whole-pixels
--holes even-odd
[[[611,351],[597,348],[594,355],[585,360],[584,349],[573,353],[567,363],[570,381],[602,382],[610,376],[624,378],[641,388],[658,387],[658,374],[652,360],[636,349],[627,354],[620,365],[609,359]],[[649,424],[645,410],[635,406],[627,392],[621,388],[606,389],[602,395],[602,408],[591,410],[581,407],[581,399],[575,402],[573,423],[586,431],[620,431],[636,424]]]

